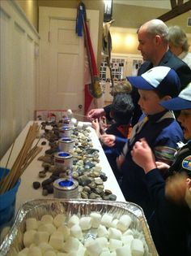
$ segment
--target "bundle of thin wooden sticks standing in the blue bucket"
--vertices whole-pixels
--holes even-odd
[[[39,154],[42,150],[42,148],[37,145],[39,140],[36,142],[36,144],[34,143],[36,137],[39,134],[39,131],[39,124],[33,123],[30,126],[27,137],[25,138],[25,141],[23,143],[23,147],[20,150],[17,158],[15,159],[15,163],[13,163],[11,170],[5,176],[6,167],[11,157],[11,153],[9,154],[5,167],[5,173],[3,175],[4,178],[2,178],[2,180],[0,181],[0,194],[5,193],[6,191],[12,189],[15,186],[20,176],[22,176],[23,171],[28,167],[28,165],[32,162],[36,155]],[[14,144],[12,145],[11,152],[13,150],[13,147]]]

